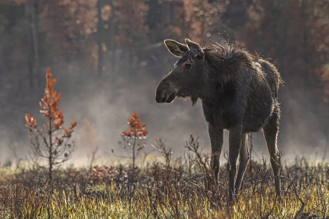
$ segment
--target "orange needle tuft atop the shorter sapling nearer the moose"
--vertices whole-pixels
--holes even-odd
[[[126,132],[121,132],[121,135],[127,137],[139,137],[146,138],[148,131],[146,130],[146,124],[141,124],[139,115],[137,113],[132,113],[131,117],[128,118],[128,130]]]

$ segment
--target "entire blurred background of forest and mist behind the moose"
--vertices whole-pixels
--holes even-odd
[[[180,154],[192,133],[209,151],[200,102],[193,108],[181,99],[158,104],[154,96],[177,61],[164,39],[209,44],[221,37],[243,42],[279,69],[285,81],[278,137],[284,158],[315,159],[317,153],[322,159],[329,109],[328,10],[322,0],[0,1],[0,160],[13,157],[13,150],[25,158],[25,113],[44,121],[38,101],[47,67],[62,92],[64,126],[78,122],[73,160],[90,155],[93,139],[104,160],[113,159],[111,149],[123,153],[117,141],[133,112],[147,125],[145,142],[166,139]],[[83,131],[88,121],[94,136]],[[267,157],[262,132],[253,135],[253,143],[252,156]],[[225,137],[223,149],[227,144]]]

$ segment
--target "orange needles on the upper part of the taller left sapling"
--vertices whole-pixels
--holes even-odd
[[[52,74],[50,69],[46,70],[46,87],[44,89],[43,98],[39,102],[41,107],[40,113],[42,116],[47,117],[49,119],[50,129],[46,124],[43,124],[43,127],[46,131],[54,131],[62,129],[62,125],[64,123],[63,113],[59,110],[57,106],[61,101],[61,93],[57,93],[54,91],[54,86],[56,84],[56,79],[52,79]],[[28,113],[25,114],[25,120],[27,127],[35,128],[38,124],[37,120],[34,117],[31,117]],[[63,137],[69,138],[71,137],[71,133],[73,132],[74,127],[76,126],[76,122],[72,122],[68,128],[64,129]],[[56,143],[59,140],[56,139]]]

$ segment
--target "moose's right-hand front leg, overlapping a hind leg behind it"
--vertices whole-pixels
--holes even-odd
[[[228,199],[233,202],[233,195],[235,194],[235,179],[237,175],[237,161],[241,148],[242,129],[235,128],[230,130],[229,135],[229,160],[227,162],[226,170],[228,175]]]

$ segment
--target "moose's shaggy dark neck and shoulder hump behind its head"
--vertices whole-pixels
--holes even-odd
[[[197,99],[218,104],[234,98],[239,81],[254,68],[253,59],[239,45],[214,44],[203,49],[205,56],[197,79],[197,86],[190,93],[192,104]]]

